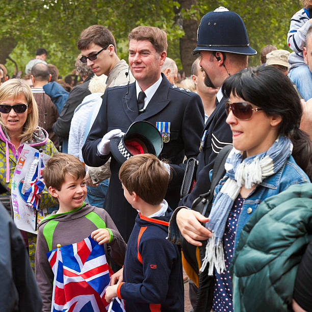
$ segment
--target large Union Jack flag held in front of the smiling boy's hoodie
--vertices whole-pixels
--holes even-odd
[[[103,245],[91,236],[79,243],[62,246],[47,253],[54,273],[51,312],[107,311],[105,290],[113,274]],[[112,312],[125,312],[115,298]]]

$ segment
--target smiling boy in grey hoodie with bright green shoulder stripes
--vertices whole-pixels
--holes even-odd
[[[59,153],[48,160],[43,178],[49,193],[60,204],[59,210],[43,219],[38,227],[36,250],[36,279],[43,312],[51,310],[54,275],[46,253],[57,244],[69,245],[91,237],[104,244],[105,253],[122,265],[126,244],[108,213],[85,204],[87,195],[85,166],[76,157]]]

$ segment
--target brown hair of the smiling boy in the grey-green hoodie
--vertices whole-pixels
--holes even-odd
[[[76,179],[86,176],[85,165],[74,155],[58,153],[53,155],[43,168],[42,176],[47,188],[53,187],[61,190],[65,174],[70,174]]]

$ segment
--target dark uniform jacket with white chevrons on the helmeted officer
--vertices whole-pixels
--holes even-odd
[[[225,100],[222,98],[216,109],[209,116],[202,136],[205,132],[206,137],[201,151],[198,154],[198,167],[196,173],[196,184],[190,194],[182,198],[179,206],[191,207],[193,201],[200,195],[210,190],[209,172],[214,167],[214,162],[219,151],[228,144],[232,143],[232,132],[230,126],[225,122]]]

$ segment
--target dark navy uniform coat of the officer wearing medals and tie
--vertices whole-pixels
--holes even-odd
[[[103,135],[112,129],[119,128],[124,133],[138,120],[146,120],[153,125],[158,121],[170,121],[170,141],[164,143],[160,159],[167,159],[175,170],[167,191],[166,200],[173,208],[179,201],[179,190],[184,175],[184,155],[196,157],[203,129],[203,106],[200,97],[191,91],[178,88],[169,83],[162,74],[163,80],[146,107],[138,114],[136,84],[108,88],[103,95],[102,106],[93,123],[82,152],[88,166],[103,165],[110,157],[97,155],[97,144]],[[110,186],[107,192],[105,209],[115,222],[122,237],[127,241],[135,223],[137,211],[128,204],[123,196],[118,178],[120,165],[112,157]]]

